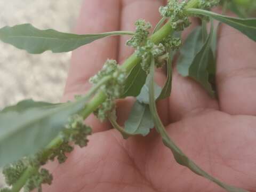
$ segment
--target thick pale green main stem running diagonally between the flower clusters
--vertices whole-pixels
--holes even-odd
[[[186,6],[186,9],[190,8],[197,8],[198,6],[198,0],[190,0]],[[165,23],[165,25],[160,28],[156,33],[151,35],[149,39],[155,43],[158,44],[160,43],[164,38],[166,38],[168,35],[172,34],[173,28],[170,25],[171,21],[168,21]],[[127,73],[131,71],[131,69],[140,63],[141,59],[136,56],[135,53],[133,53],[129,58],[126,59],[126,61],[123,63],[121,66],[122,69],[124,69]],[[105,80],[109,80],[111,77],[108,76],[106,79],[104,79],[103,83]],[[107,82],[107,81],[106,81]],[[101,82],[102,83],[102,82]],[[99,87],[93,87],[89,91],[89,95],[91,96],[96,89],[99,89]],[[86,96],[85,96],[86,97]],[[95,109],[97,109],[102,102],[104,102],[107,99],[107,96],[104,92],[100,91],[94,97],[92,100],[86,104],[85,109],[82,111],[82,116],[83,118],[87,118]],[[47,145],[44,153],[43,153],[43,160],[46,161],[46,159],[49,157],[51,154],[51,150],[58,147],[62,143],[62,138],[60,136],[57,136],[55,139],[53,139],[49,145]],[[22,174],[21,178],[13,185],[12,192],[18,192],[20,189],[25,185],[26,180],[31,177],[37,171],[39,167],[28,167],[27,170]]]

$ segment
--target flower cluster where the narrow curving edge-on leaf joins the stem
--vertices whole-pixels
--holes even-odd
[[[166,49],[162,43],[155,45],[153,42],[148,40],[144,46],[138,47],[135,53],[137,57],[141,58],[141,67],[148,74],[152,58],[155,59],[156,67],[163,66],[163,62],[158,62],[158,58],[166,55]]]

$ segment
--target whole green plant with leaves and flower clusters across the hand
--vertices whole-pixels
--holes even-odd
[[[223,7],[222,14],[210,11],[212,7],[220,3]],[[133,47],[135,51],[122,65],[118,65],[119,63],[113,59],[106,60],[102,69],[90,78],[91,89],[86,94],[77,95],[74,101],[53,104],[24,100],[17,105],[6,107],[0,112],[0,166],[4,166],[3,174],[5,175],[6,184],[9,186],[0,191],[17,192],[22,188],[25,191],[34,189],[42,191],[42,185],[51,185],[54,178],[51,171],[47,170],[44,165],[49,161],[54,161],[54,159],[59,163],[64,163],[67,160],[67,153],[73,151],[74,145],[81,148],[87,145],[87,137],[92,134],[93,127],[86,125],[84,119],[89,117],[90,114],[97,116],[101,122],[109,121],[122,134],[124,139],[135,137],[137,140],[143,140],[142,136],[146,137],[150,130],[155,127],[156,133],[162,138],[163,144],[172,151],[177,163],[214,182],[226,191],[246,191],[213,177],[183,153],[167,133],[156,108],[156,103],[159,100],[169,98],[171,95],[172,63],[175,60],[175,53],[178,52],[179,58],[177,59],[176,68],[179,74],[193,79],[197,86],[207,92],[207,97],[212,97],[212,100],[217,100],[220,97],[216,89],[215,79],[217,34],[220,24],[213,25],[213,20],[229,25],[252,41],[256,41],[255,18],[245,19],[225,15],[227,9],[230,9],[244,16],[246,7],[251,9],[250,5],[254,6],[255,2],[247,1],[247,4],[244,3],[243,7],[239,7],[239,4],[241,4],[241,1],[238,0],[222,2],[219,0],[181,2],[169,0],[165,6],[159,7],[162,19],[154,27],[152,33],[150,33],[150,29],[153,26],[144,19],[135,22],[135,31],[111,31],[87,35],[61,33],[53,29],[39,30],[30,24],[1,28],[0,39],[3,42],[12,44],[31,54],[39,54],[45,51],[54,53],[73,51],[97,39],[117,35],[130,35],[131,38],[126,42],[126,45]],[[235,9],[235,6],[239,9]],[[190,26],[191,17],[198,17],[201,20],[201,25],[196,27],[183,42],[181,31]],[[112,48],[109,47],[109,49]],[[223,49],[222,51],[225,52]],[[86,65],[93,65],[93,63],[84,63],[84,65],[86,70]],[[154,82],[156,68],[167,70],[167,78],[163,87]],[[225,89],[228,89],[228,87]],[[191,95],[193,94],[191,93]],[[232,97],[232,95],[230,96]],[[124,125],[120,125],[116,116],[116,101],[117,99],[119,101],[123,100],[126,97],[134,97],[136,101]],[[189,99],[189,95],[187,97]],[[171,111],[175,110],[174,108]],[[215,113],[212,116],[218,118],[220,114]],[[207,116],[197,118],[197,124],[191,124],[191,129],[203,126],[203,123],[205,123],[203,121],[208,121]],[[222,119],[222,123],[225,124],[225,118]],[[239,126],[239,120],[234,121]],[[189,121],[183,123],[189,123]],[[250,121],[247,121],[247,124],[250,124]],[[180,125],[177,124],[177,126]],[[207,131],[207,128],[205,127],[205,130],[196,129],[195,132],[198,130]],[[240,128],[243,129],[243,127]],[[237,128],[234,127],[234,129]],[[186,130],[181,130],[181,133],[186,133]],[[197,134],[200,135],[200,133],[194,133],[191,137],[196,137]],[[242,131],[241,134],[243,134]],[[219,137],[222,137],[221,133]],[[235,137],[237,138],[237,136]],[[150,135],[148,139],[152,139],[153,144],[156,142],[155,137],[153,139]],[[189,138],[185,137],[184,140],[186,139]],[[203,139],[207,140],[208,138]],[[251,139],[255,140],[255,138]],[[222,141],[221,145],[224,147],[226,145],[225,140],[220,141]],[[104,142],[104,140],[99,142]],[[155,150],[153,144],[150,145],[153,147],[151,150]],[[141,146],[138,144],[139,147]],[[241,146],[241,148],[243,147],[246,146]],[[198,150],[200,155],[201,149],[193,150]],[[229,153],[229,151],[224,153]],[[211,154],[208,155],[211,158]],[[152,157],[147,155],[145,158]],[[244,158],[250,158],[250,156]],[[168,161],[168,159],[164,159],[165,161]],[[161,162],[162,159],[159,159],[159,166],[161,166]],[[170,161],[170,163],[172,162]],[[224,171],[225,173],[220,174],[228,174],[227,169]],[[237,171],[240,172],[241,170]],[[214,172],[212,170],[212,173]],[[184,177],[186,181],[186,175]],[[170,180],[170,185],[175,185],[175,183]],[[187,190],[190,191],[190,189]],[[180,189],[180,191],[183,191],[183,189]]]

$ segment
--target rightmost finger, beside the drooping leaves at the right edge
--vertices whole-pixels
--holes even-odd
[[[256,43],[221,25],[217,58],[220,109],[229,114],[256,115]]]

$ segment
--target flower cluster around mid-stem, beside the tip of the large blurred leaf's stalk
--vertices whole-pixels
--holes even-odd
[[[92,84],[97,84],[100,79],[111,76],[111,81],[102,85],[100,90],[107,95],[107,99],[101,103],[100,107],[94,111],[94,114],[104,121],[108,113],[115,107],[115,99],[120,98],[123,94],[124,83],[126,79],[125,71],[123,71],[115,60],[107,60],[98,74],[90,78]]]

